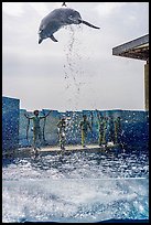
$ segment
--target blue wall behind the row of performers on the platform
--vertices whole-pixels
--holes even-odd
[[[47,109],[43,109],[40,114],[47,114]],[[111,118],[112,121],[117,118],[121,118],[121,142],[127,148],[148,149],[149,147],[149,111],[138,110],[100,110],[103,116],[109,118],[109,126],[107,129],[106,141],[112,140],[111,137]],[[2,149],[11,150],[18,147],[29,147],[33,142],[32,121],[30,121],[28,139],[26,127],[28,119],[24,114],[29,116],[33,115],[32,111],[20,109],[20,100],[9,97],[2,97]],[[41,128],[43,133],[43,144],[58,144],[57,126],[58,119],[64,115],[68,118],[68,126],[66,130],[66,144],[80,144],[80,129],[79,121],[83,118],[83,114],[87,115],[87,118],[93,127],[93,133],[88,133],[88,143],[98,143],[98,118],[96,110],[83,110],[83,111],[65,111],[60,113],[53,110],[45,120],[41,120]],[[114,131],[112,131],[114,132]]]

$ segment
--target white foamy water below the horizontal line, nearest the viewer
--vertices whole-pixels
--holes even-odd
[[[147,179],[22,179],[2,184],[3,223],[149,216]]]

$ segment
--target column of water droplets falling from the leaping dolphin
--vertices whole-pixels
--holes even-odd
[[[64,64],[64,77],[66,82],[65,89],[67,92],[68,105],[74,103],[75,109],[77,109],[80,97],[80,88],[84,85],[82,82],[82,76],[84,74],[82,66],[82,44],[76,38],[77,31],[82,32],[82,26],[77,25],[74,28],[71,25],[65,29],[69,31],[69,41],[67,46],[64,47],[66,55],[66,63]]]

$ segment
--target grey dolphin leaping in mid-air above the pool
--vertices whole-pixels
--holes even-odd
[[[56,31],[65,25],[80,23],[84,23],[94,29],[99,29],[98,26],[95,26],[89,22],[83,20],[79,12],[74,9],[67,7],[55,9],[46,17],[44,17],[41,21],[39,28],[39,44],[41,44],[42,41],[47,38],[50,38],[54,42],[57,42],[57,40],[53,35]]]

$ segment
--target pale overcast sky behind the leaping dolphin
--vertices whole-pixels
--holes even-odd
[[[85,24],[39,44],[41,20],[62,2],[2,2],[2,96],[26,110],[144,110],[145,61],[112,49],[149,33],[149,2],[66,2]]]

